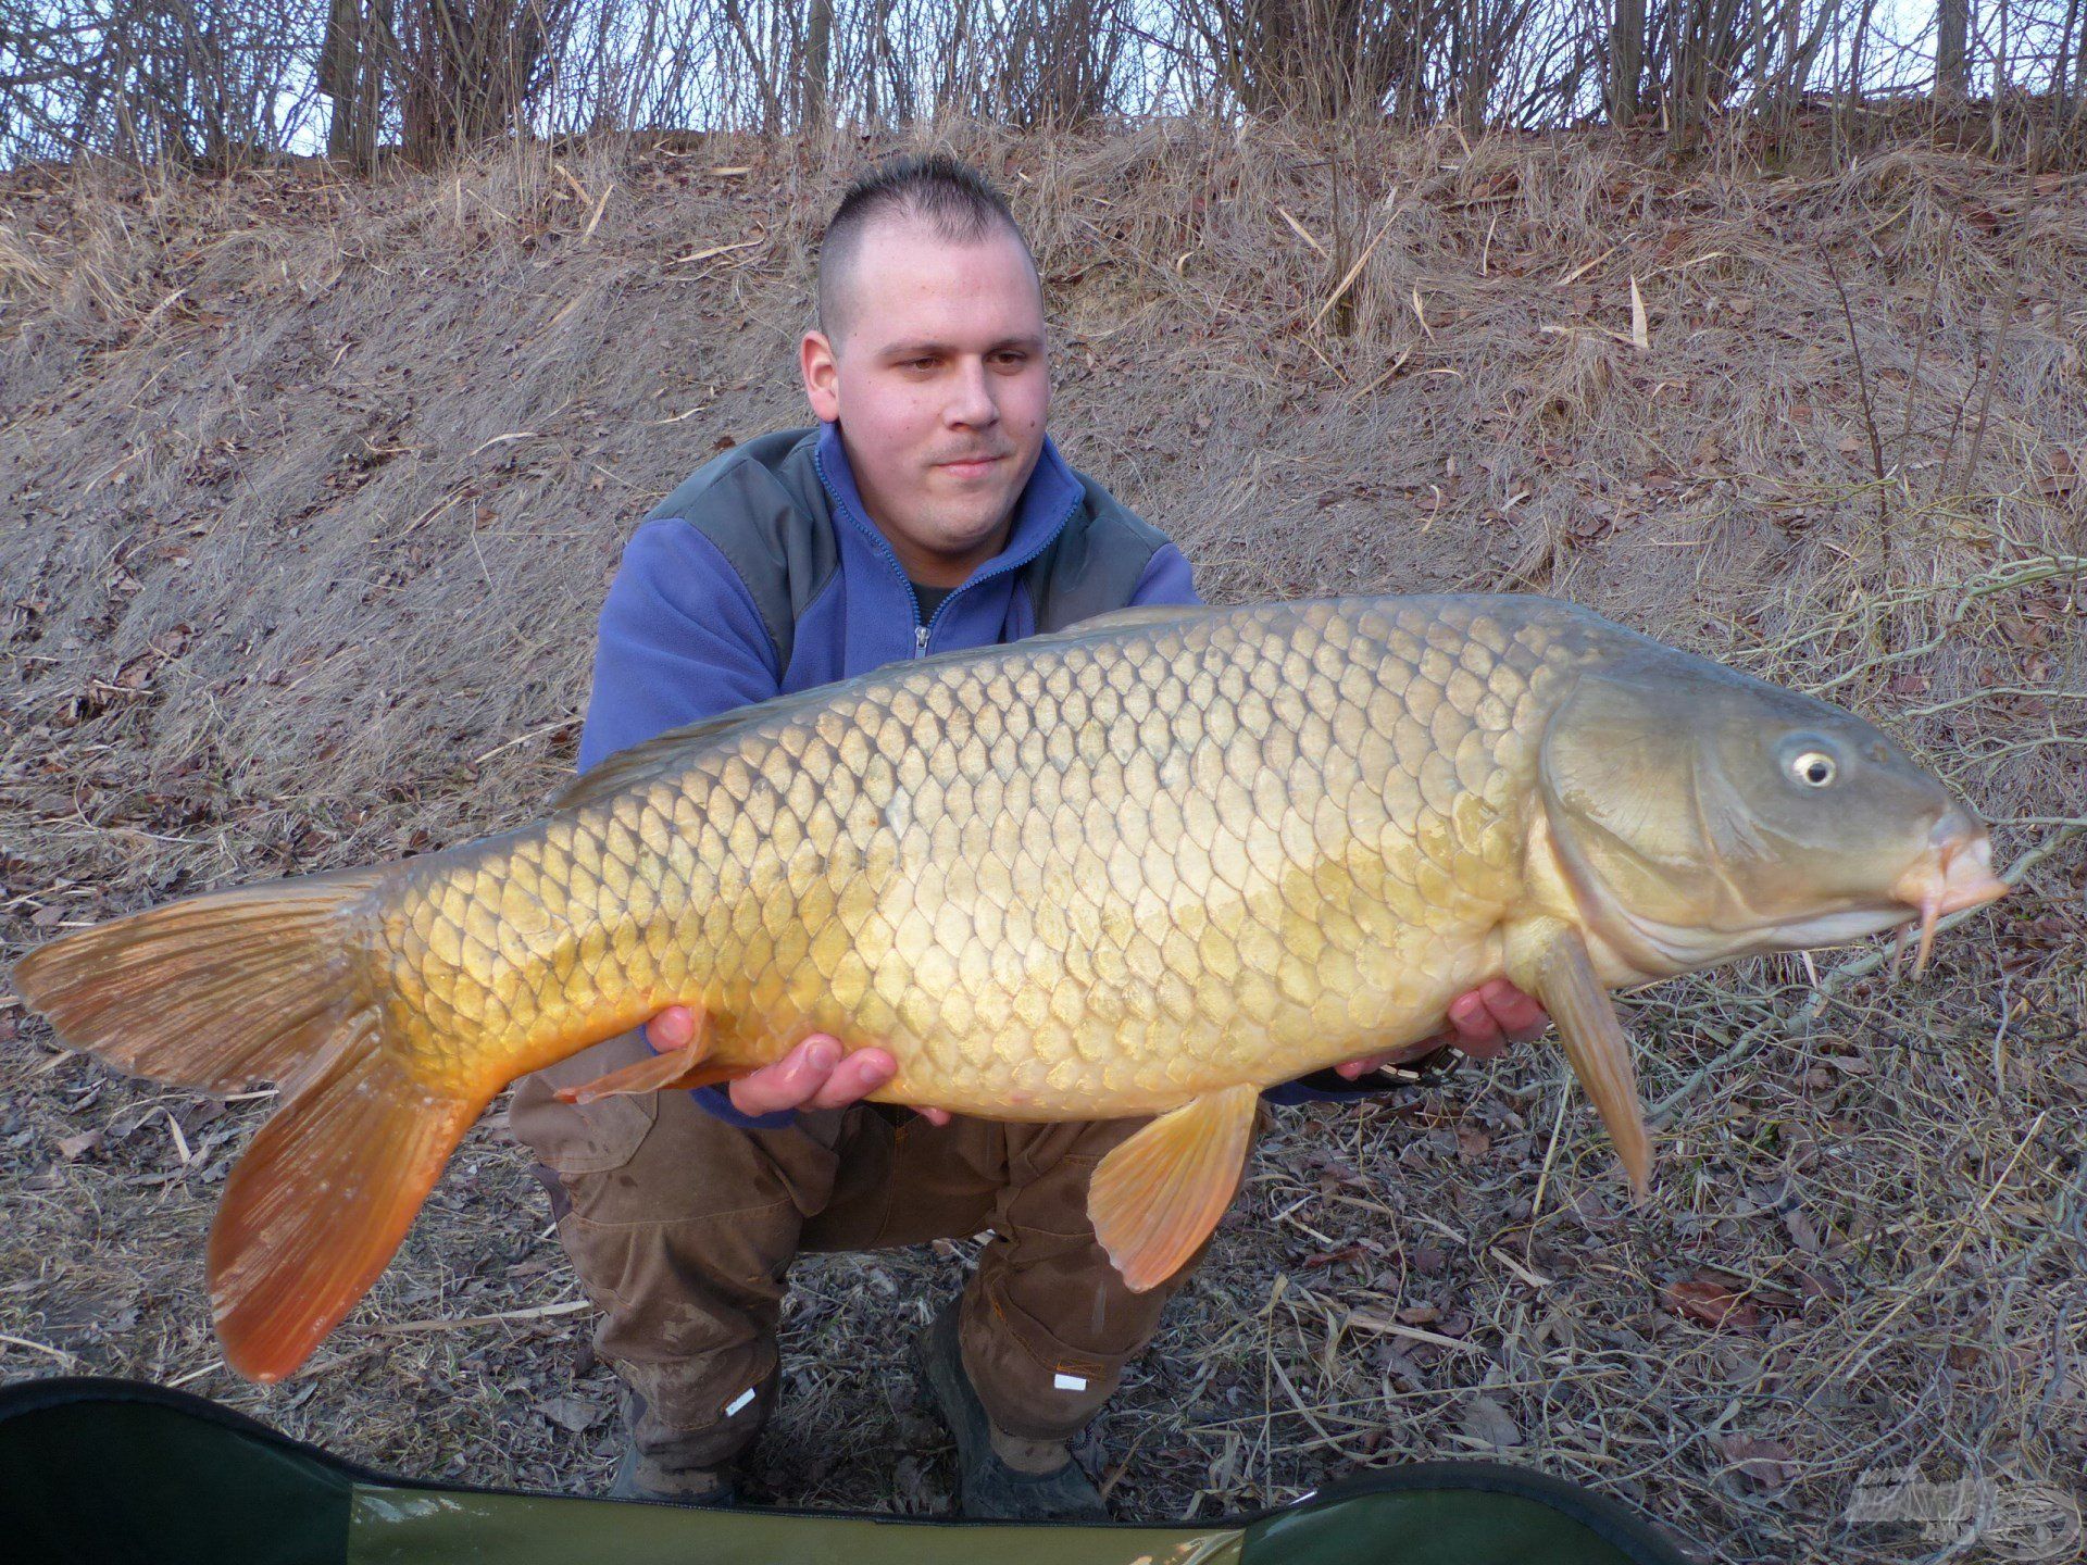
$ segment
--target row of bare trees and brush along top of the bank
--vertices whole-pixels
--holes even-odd
[[[1978,8],[1983,4],[1983,8]],[[2087,161],[2087,0],[0,0],[0,165],[115,152],[363,167],[597,129],[789,136],[939,115],[1196,109],[1567,125],[1726,115],[1837,146],[1962,104],[1985,144]],[[1972,48],[1989,65],[1972,65]]]

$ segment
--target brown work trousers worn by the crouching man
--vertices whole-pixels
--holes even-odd
[[[557,1177],[557,1233],[601,1310],[595,1350],[637,1394],[639,1454],[664,1473],[718,1467],[760,1431],[801,1250],[991,1229],[958,1340],[987,1417],[1027,1440],[1064,1440],[1100,1411],[1194,1271],[1133,1294],[1087,1221],[1094,1164],[1146,1121],[935,1127],[858,1104],[753,1131],[680,1089],[584,1108],[551,1095],[647,1052],[626,1033],[526,1077],[509,1118]]]

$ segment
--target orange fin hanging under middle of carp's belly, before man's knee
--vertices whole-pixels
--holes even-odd
[[[1240,1187],[1258,1102],[1258,1087],[1204,1093],[1096,1166],[1087,1217],[1133,1294],[1173,1277],[1210,1237]]]

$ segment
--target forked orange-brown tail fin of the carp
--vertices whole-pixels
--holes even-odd
[[[384,870],[217,891],[52,941],[15,987],[58,1037],[134,1075],[284,1108],[211,1229],[225,1361],[282,1379],[376,1281],[484,1102],[430,1091],[386,1050],[353,958]]]

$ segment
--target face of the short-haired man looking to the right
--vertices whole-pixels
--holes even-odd
[[[906,572],[956,586],[1000,553],[1044,451],[1044,296],[1021,242],[872,223],[841,282],[839,340],[808,332],[812,411],[841,426],[870,520]]]

